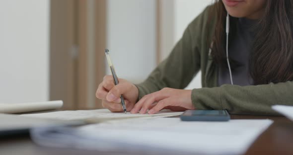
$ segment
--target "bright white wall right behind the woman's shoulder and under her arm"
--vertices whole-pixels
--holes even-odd
[[[187,25],[197,17],[213,0],[174,0],[174,42],[182,37]],[[186,89],[200,88],[201,73],[199,73],[186,87]]]

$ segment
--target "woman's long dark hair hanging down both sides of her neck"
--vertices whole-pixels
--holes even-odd
[[[211,15],[216,15],[217,18],[212,56],[216,63],[223,64],[226,59],[227,12],[222,0],[216,0],[212,12]],[[230,17],[232,36],[236,22],[237,18]],[[252,44],[249,59],[250,76],[254,84],[293,80],[293,0],[267,0],[265,13],[256,26],[259,31]]]

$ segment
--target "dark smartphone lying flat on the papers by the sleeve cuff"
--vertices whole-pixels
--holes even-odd
[[[182,121],[228,121],[227,110],[186,110],[181,116]]]

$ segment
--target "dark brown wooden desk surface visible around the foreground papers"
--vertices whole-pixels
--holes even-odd
[[[246,155],[293,155],[293,122],[285,117],[231,115],[231,119],[272,119],[274,123],[253,143]],[[232,142],[231,142],[232,143]],[[46,148],[35,145],[28,135],[0,140],[0,155],[128,155],[76,149]],[[137,153],[156,155],[154,152]],[[137,155],[136,154],[136,155]],[[173,153],[174,154],[174,153]],[[178,154],[178,153],[176,153]],[[174,154],[174,155],[176,155]],[[170,155],[170,153],[166,153]]]

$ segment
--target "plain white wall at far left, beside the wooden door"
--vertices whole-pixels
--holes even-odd
[[[0,103],[49,99],[49,0],[0,0]]]

